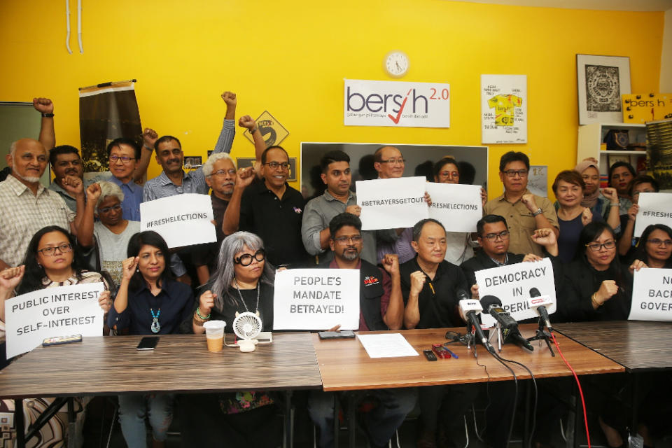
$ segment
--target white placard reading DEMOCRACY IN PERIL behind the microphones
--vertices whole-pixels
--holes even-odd
[[[475,274],[479,297],[498,297],[502,301],[502,308],[517,321],[538,316],[528,304],[531,288],[537,288],[541,295],[549,296],[554,303],[547,309],[548,314],[555,312],[553,265],[548,258],[483,269]],[[495,319],[484,313],[481,313],[481,322],[489,327],[496,324]]]

